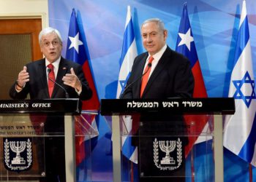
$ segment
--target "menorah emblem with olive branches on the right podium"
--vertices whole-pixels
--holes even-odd
[[[180,138],[177,138],[177,141],[157,141],[155,138],[153,150],[154,165],[159,170],[176,170],[181,166],[182,142]]]

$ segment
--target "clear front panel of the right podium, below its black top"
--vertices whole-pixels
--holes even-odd
[[[211,115],[146,114],[119,120],[121,181],[214,181]],[[190,145],[196,141],[204,141],[200,150]],[[195,159],[202,154],[199,163]]]

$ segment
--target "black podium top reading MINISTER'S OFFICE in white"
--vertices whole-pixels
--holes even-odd
[[[69,113],[80,114],[78,98],[42,100],[0,100],[0,114],[10,113]]]

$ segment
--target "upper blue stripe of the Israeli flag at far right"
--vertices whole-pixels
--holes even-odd
[[[244,47],[246,47],[247,42],[249,41],[249,27],[248,27],[248,19],[247,15],[244,18],[244,22],[241,24],[241,27],[238,31],[238,38],[237,38],[237,44],[236,44],[236,55],[235,55],[235,65],[238,61],[241,53],[244,50]]]

